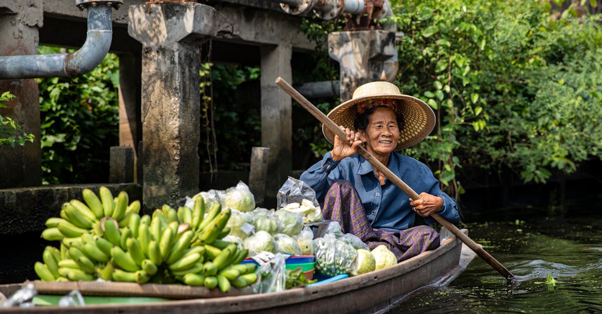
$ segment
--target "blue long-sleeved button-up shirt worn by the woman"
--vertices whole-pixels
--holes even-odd
[[[393,152],[389,170],[418,194],[427,192],[441,197],[443,206],[439,215],[452,223],[460,221],[456,201],[439,189],[439,181],[425,164]],[[300,177],[314,189],[320,204],[323,204],[324,195],[336,179],[348,180],[355,186],[373,228],[394,232],[414,226],[415,214],[408,195],[388,179],[385,179],[384,185],[380,185],[370,162],[359,154],[337,162],[332,160],[329,152]],[[425,217],[424,221],[427,224],[436,222],[431,217]]]

